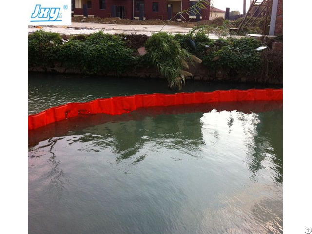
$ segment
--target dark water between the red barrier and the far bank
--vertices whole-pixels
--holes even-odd
[[[70,102],[87,102],[113,96],[251,88],[281,88],[281,85],[209,83],[187,80],[182,90],[178,91],[169,88],[167,81],[163,79],[29,73],[28,114],[36,114]]]

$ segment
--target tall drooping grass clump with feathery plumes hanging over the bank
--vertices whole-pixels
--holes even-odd
[[[145,58],[167,79],[169,87],[181,89],[185,78],[193,76],[185,71],[189,68],[188,63],[201,62],[200,59],[182,49],[174,36],[165,32],[153,34],[146,42],[146,49]]]

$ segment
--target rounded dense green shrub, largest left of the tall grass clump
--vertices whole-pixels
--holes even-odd
[[[59,51],[60,62],[80,67],[85,73],[117,71],[118,74],[135,64],[133,51],[117,36],[98,32],[82,40],[75,38]]]

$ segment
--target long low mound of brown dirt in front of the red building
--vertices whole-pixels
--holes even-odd
[[[124,25],[175,25],[181,27],[194,27],[196,23],[192,22],[177,22],[169,20],[128,20],[120,19],[119,17],[114,18],[100,18],[100,17],[86,17],[83,16],[74,16],[72,17],[72,22],[87,22],[87,23],[103,23],[103,24],[124,24]]]

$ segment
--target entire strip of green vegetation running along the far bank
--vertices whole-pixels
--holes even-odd
[[[137,67],[154,66],[170,87],[178,88],[186,77],[193,76],[189,69],[201,61],[210,77],[222,70],[229,78],[247,75],[271,81],[282,79],[282,55],[270,49],[256,51],[262,41],[212,40],[198,29],[187,35],[159,32],[144,42],[138,41],[138,37],[103,32],[63,39],[58,33],[40,30],[28,36],[28,66],[79,68],[85,74],[120,75]],[[137,48],[144,43],[147,54],[139,56]],[[132,44],[135,46],[129,46]]]

